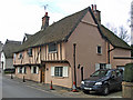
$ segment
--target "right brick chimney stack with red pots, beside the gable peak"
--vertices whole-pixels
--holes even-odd
[[[91,4],[91,9],[92,9],[98,22],[101,23],[101,11],[96,10],[96,4]]]

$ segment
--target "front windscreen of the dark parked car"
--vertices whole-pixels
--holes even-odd
[[[111,73],[110,70],[98,70],[91,77],[106,77]]]

